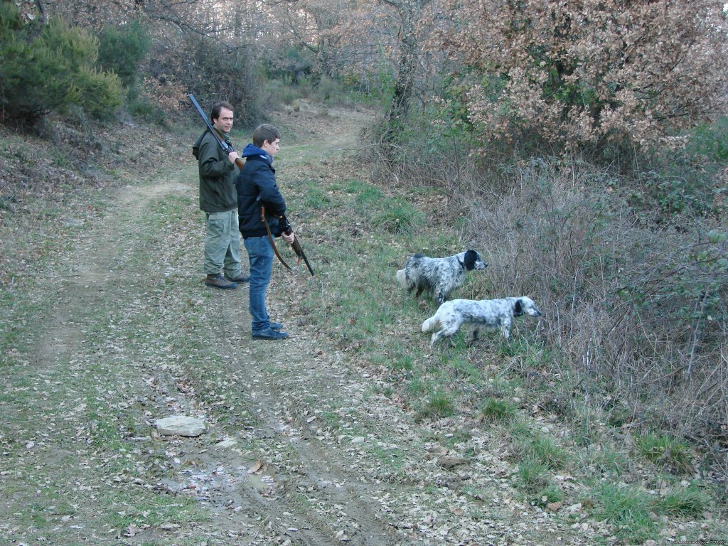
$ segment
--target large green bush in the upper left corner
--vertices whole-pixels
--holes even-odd
[[[0,119],[35,122],[71,106],[103,117],[122,103],[118,77],[94,68],[95,37],[60,19],[34,38],[32,31],[15,6],[0,4]]]

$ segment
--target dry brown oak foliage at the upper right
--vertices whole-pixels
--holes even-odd
[[[722,1],[481,0],[461,15],[443,44],[478,73],[466,101],[486,141],[644,146],[724,111]]]

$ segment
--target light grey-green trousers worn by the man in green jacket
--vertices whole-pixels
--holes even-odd
[[[205,274],[223,272],[226,277],[234,279],[242,274],[237,209],[206,214]]]

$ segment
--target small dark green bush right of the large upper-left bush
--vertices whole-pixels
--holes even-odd
[[[137,82],[139,66],[151,47],[151,37],[138,21],[108,26],[98,44],[98,66],[114,72],[127,89]]]

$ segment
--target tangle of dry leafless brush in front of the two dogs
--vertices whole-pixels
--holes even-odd
[[[504,171],[507,191],[465,185],[456,207],[486,250],[488,297],[537,301],[539,336],[574,384],[678,435],[715,434],[728,415],[726,242],[705,219],[644,225],[620,183],[533,159]]]

